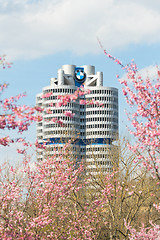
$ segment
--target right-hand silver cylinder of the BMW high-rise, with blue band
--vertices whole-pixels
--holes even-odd
[[[107,87],[90,87],[86,95],[86,163],[87,172],[96,173],[97,167],[102,172],[110,172],[112,163],[108,151],[118,135],[118,90]],[[103,106],[101,106],[103,104]]]

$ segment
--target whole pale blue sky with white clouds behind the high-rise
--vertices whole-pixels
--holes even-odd
[[[26,92],[23,103],[33,106],[62,65],[95,65],[104,73],[104,86],[119,89],[120,134],[127,134],[116,79],[123,72],[106,58],[96,37],[124,64],[134,59],[139,69],[154,74],[160,65],[160,1],[0,0],[0,6],[0,53],[13,61],[11,69],[0,70],[1,82],[10,84],[6,96]],[[34,126],[27,136],[34,140]]]

